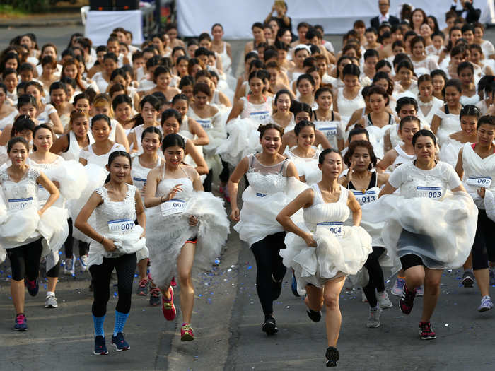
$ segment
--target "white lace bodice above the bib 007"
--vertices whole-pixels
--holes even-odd
[[[108,222],[112,220],[128,219],[136,220],[136,200],[134,194],[136,187],[127,184],[127,193],[123,201],[111,201],[108,190],[101,186],[95,189],[103,199],[103,204],[95,208],[95,230],[98,232],[108,232]]]

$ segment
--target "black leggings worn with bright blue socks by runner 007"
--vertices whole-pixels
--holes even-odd
[[[119,300],[115,309],[127,314],[131,310],[132,281],[136,271],[136,253],[124,254],[118,258],[103,258],[100,265],[89,267],[93,281],[93,307],[91,312],[95,317],[103,317],[107,313],[107,303],[110,299],[110,277],[115,268],[117,271],[117,286]]]

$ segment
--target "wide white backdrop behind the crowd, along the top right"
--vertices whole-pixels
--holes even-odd
[[[489,16],[488,4],[493,0],[477,0],[474,4],[482,9],[480,22]],[[441,28],[445,27],[445,13],[452,0],[390,0],[390,13],[397,15],[401,4],[409,2],[422,8],[427,15],[436,16]],[[287,15],[292,18],[293,32],[303,20],[320,24],[325,33],[342,34],[352,28],[354,20],[362,19],[366,25],[378,16],[378,0],[286,0]],[[250,39],[251,25],[262,22],[272,9],[270,0],[177,0],[177,23],[182,36],[198,36],[210,32],[211,25],[221,23],[226,39]]]

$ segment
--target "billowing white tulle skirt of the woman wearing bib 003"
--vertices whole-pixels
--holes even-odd
[[[428,268],[455,269],[471,252],[477,216],[465,192],[448,192],[442,201],[390,194],[373,202],[363,220],[386,222],[382,238],[392,259],[415,254]]]

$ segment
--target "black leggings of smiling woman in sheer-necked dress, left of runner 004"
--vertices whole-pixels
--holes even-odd
[[[284,278],[286,267],[282,264],[280,249],[285,249],[285,233],[268,235],[251,245],[256,259],[256,291],[260,298],[264,314],[273,313],[272,274],[276,281]]]

